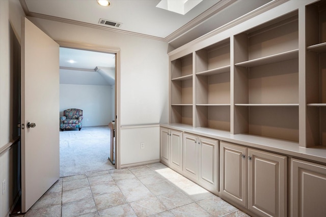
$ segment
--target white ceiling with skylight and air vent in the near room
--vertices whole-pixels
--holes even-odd
[[[198,38],[272,0],[203,0],[185,15],[156,7],[160,0],[109,1],[109,7],[99,6],[96,0],[20,0],[20,3],[27,16],[164,40],[176,48],[193,40],[193,35]],[[100,19],[121,25],[99,24]]]

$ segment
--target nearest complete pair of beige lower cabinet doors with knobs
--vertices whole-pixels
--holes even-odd
[[[259,216],[286,216],[286,157],[221,142],[221,197]]]

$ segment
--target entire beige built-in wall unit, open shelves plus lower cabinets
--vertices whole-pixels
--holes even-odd
[[[213,159],[199,138],[219,141],[216,193],[248,214],[297,216],[308,207],[322,216],[324,194],[303,195],[324,184],[326,0],[271,1],[261,10],[169,53],[170,122],[162,126],[183,134],[181,173],[194,181],[203,168],[196,156]],[[265,189],[272,200],[257,209]]]

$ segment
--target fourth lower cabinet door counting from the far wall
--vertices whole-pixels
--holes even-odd
[[[203,187],[217,193],[218,189],[218,141],[199,138],[198,181]]]

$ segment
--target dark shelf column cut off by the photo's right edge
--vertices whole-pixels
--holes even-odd
[[[326,1],[306,7],[307,146],[326,145]]]

